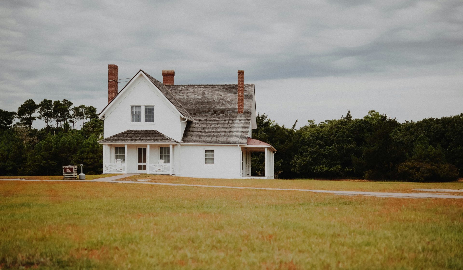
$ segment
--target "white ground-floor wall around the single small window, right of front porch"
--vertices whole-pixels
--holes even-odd
[[[214,164],[204,164],[204,150],[214,149]],[[241,178],[241,147],[182,145],[181,170],[176,175],[204,178]]]

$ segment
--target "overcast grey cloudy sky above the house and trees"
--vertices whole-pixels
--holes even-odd
[[[107,65],[176,84],[256,84],[290,126],[377,110],[463,112],[463,1],[0,1],[0,109],[107,103]],[[121,89],[123,84],[119,84]]]

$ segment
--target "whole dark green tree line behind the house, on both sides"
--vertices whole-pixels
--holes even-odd
[[[80,163],[87,173],[101,173],[103,123],[94,107],[72,105],[66,99],[29,99],[17,112],[0,110],[0,175],[58,175],[63,165]],[[45,128],[33,129],[36,119]],[[463,172],[463,113],[399,123],[374,110],[362,119],[348,111],[341,119],[308,121],[299,129],[296,123],[286,128],[257,116],[252,137],[278,150],[277,178],[445,182]],[[263,159],[253,153],[252,175],[263,175]]]

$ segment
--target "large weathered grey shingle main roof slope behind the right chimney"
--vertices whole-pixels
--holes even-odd
[[[254,84],[244,85],[244,113],[238,114],[238,85],[167,85],[194,118],[183,143],[246,144],[254,102]]]

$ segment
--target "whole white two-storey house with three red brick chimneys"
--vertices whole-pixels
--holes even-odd
[[[251,178],[251,153],[265,152],[274,177],[275,148],[251,138],[256,124],[254,84],[175,85],[143,70],[118,92],[118,67],[108,66],[103,173],[152,173],[205,178]]]

